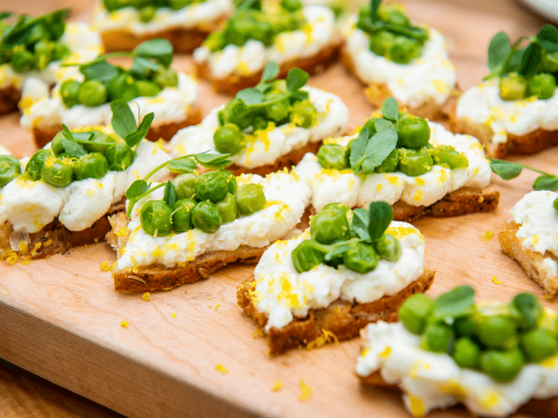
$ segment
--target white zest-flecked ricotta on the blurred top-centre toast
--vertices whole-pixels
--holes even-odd
[[[279,65],[286,61],[308,58],[333,42],[335,17],[326,6],[305,6],[303,15],[308,22],[298,31],[282,32],[270,47],[259,40],[248,40],[241,47],[227,45],[222,51],[211,52],[203,45],[194,51],[194,60],[205,63],[216,78],[229,75],[252,75],[270,61]]]

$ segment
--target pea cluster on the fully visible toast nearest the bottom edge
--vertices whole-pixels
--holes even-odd
[[[357,240],[349,219],[352,211],[340,203],[329,203],[310,220],[310,239],[303,240],[292,251],[292,262],[298,272],[307,272],[316,265],[326,264],[346,268],[365,274],[374,270],[380,259],[398,261],[401,245],[390,233],[384,233],[375,242]],[[340,243],[349,245],[347,251],[326,261],[325,255],[331,246]],[[322,248],[324,247],[324,248]]]

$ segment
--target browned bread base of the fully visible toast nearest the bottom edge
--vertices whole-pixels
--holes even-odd
[[[407,297],[428,291],[434,276],[434,271],[425,270],[421,277],[395,295],[384,296],[369,303],[349,304],[337,300],[329,307],[310,310],[306,318],[295,318],[285,327],[271,327],[266,336],[269,355],[279,355],[286,350],[310,344],[321,345],[332,339],[352,339],[359,335],[365,325],[377,320],[394,322],[398,320],[398,309]],[[263,330],[267,316],[255,307],[252,297],[255,286],[253,276],[241,283],[236,291],[236,302],[246,315],[256,321],[259,330]]]

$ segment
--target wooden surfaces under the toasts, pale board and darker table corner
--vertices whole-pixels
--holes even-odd
[[[45,13],[68,3],[80,16],[90,10],[89,1],[75,0],[2,6]],[[544,23],[513,0],[405,3],[415,20],[447,36],[462,88],[485,75],[485,50],[494,33],[503,29],[515,39]],[[174,66],[188,70],[190,62],[181,57]],[[347,102],[351,127],[370,115],[361,85],[339,64],[310,84]],[[205,113],[227,100],[204,83],[199,97]],[[17,114],[0,118],[0,132],[0,144],[15,155],[35,150]],[[513,160],[558,173],[557,157],[555,148]],[[494,213],[415,222],[427,239],[425,265],[437,270],[430,294],[469,283],[487,300],[508,300],[517,291],[543,300],[541,289],[502,254],[496,238],[481,239],[485,231],[497,233],[534,178],[525,172],[510,182],[495,180],[502,196]],[[236,285],[253,267],[225,268],[196,284],[153,292],[145,302],[141,294],[112,291],[110,273],[101,272],[100,264],[115,259],[100,243],[27,265],[0,265],[0,357],[128,417],[408,416],[398,394],[359,385],[353,371],[358,340],[266,356],[264,339],[252,335],[255,325],[236,307]],[[543,303],[556,308],[555,302]],[[120,326],[123,320],[127,328]],[[282,389],[273,392],[277,380]],[[301,382],[311,390],[306,400]],[[430,416],[466,415],[458,408]],[[0,417],[119,416],[0,362]]]

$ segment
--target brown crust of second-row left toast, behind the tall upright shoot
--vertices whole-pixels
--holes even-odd
[[[202,111],[199,107],[192,107],[188,112],[188,116],[181,122],[163,123],[161,125],[151,126],[147,132],[146,139],[149,141],[157,141],[163,138],[169,141],[176,132],[179,132],[183,127],[197,125],[202,121]],[[38,148],[43,148],[62,130],[62,125],[56,126],[36,126],[33,127],[33,139]]]

